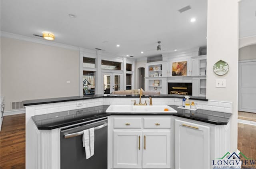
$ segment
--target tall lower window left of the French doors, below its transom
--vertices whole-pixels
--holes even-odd
[[[95,72],[83,71],[83,91],[84,95],[95,93]]]

